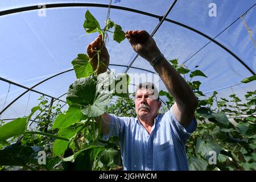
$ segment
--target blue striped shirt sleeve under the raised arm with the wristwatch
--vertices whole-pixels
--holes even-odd
[[[197,121],[196,121],[195,115],[193,116],[191,123],[189,123],[189,125],[187,127],[184,127],[180,124],[179,121],[177,121],[177,119],[173,113],[172,107],[169,111],[167,111],[167,113],[169,114],[170,123],[171,123],[172,130],[174,131],[174,134],[176,135],[177,138],[179,138],[179,140],[183,144],[185,144],[187,142],[189,136],[197,128]]]

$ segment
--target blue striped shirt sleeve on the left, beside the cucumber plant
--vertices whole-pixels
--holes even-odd
[[[109,114],[110,123],[109,123],[109,133],[103,135],[104,140],[108,140],[109,137],[117,136],[121,137],[121,134],[126,126],[126,117],[117,117],[113,114]]]

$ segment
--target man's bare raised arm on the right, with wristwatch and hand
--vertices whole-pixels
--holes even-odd
[[[147,61],[151,62],[160,55],[155,40],[144,30],[127,31],[126,38],[129,40],[134,51]],[[162,78],[164,85],[175,99],[172,107],[176,119],[187,127],[191,123],[197,107],[197,98],[183,77],[164,58],[154,64],[155,71]]]

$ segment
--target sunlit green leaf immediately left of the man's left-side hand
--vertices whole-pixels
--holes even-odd
[[[80,53],[77,58],[72,61],[73,68],[75,69],[76,78],[88,77],[92,75],[93,68],[89,63],[89,57]]]

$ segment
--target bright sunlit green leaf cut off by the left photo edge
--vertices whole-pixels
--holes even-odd
[[[27,117],[17,118],[0,127],[0,141],[23,134],[27,127]]]

